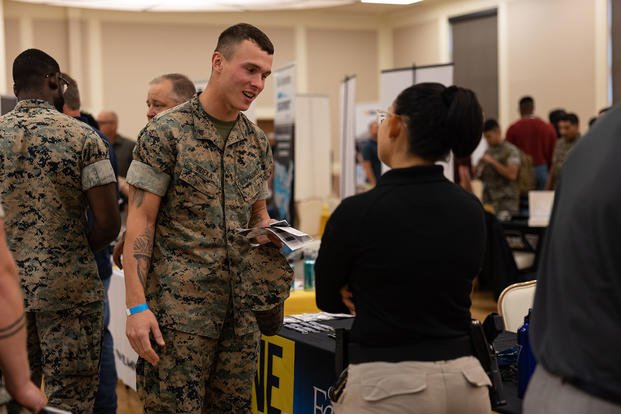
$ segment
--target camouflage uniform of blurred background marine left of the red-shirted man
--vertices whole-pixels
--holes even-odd
[[[490,145],[486,153],[503,165],[520,166],[519,150],[507,141]],[[517,180],[511,181],[503,177],[492,165],[484,161],[479,165],[478,177],[483,182],[484,204],[490,204],[496,213],[519,211],[520,189]]]

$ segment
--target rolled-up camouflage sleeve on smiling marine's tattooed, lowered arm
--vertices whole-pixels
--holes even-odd
[[[175,157],[165,133],[156,128],[161,118],[151,121],[138,136],[134,159],[127,171],[127,183],[163,197],[170,183]]]

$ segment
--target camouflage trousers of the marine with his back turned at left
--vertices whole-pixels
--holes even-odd
[[[45,381],[52,407],[73,413],[93,410],[99,383],[103,303],[56,312],[27,312],[32,381]]]

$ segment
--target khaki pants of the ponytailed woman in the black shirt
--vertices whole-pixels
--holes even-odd
[[[335,414],[489,414],[489,377],[474,357],[350,365]]]

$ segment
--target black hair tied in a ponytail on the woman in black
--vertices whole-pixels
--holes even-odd
[[[406,117],[410,152],[429,161],[468,156],[481,140],[483,111],[469,89],[419,83],[399,94],[395,113]]]

